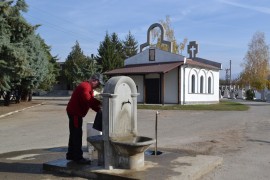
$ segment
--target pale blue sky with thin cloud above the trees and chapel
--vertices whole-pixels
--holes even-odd
[[[232,74],[241,63],[255,32],[270,44],[269,0],[26,0],[24,17],[65,61],[76,40],[86,55],[97,54],[106,32],[124,40],[129,31],[138,44],[147,30],[168,15],[178,42],[199,43],[198,57],[222,63],[221,78],[232,61]],[[183,55],[188,56],[186,49]]]

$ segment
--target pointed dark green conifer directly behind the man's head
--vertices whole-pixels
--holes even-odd
[[[79,42],[76,41],[65,61],[65,76],[74,87],[97,72],[95,64],[94,59],[84,55]]]

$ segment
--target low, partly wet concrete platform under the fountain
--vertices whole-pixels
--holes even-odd
[[[153,150],[153,149],[151,149]],[[87,153],[84,154],[87,157]],[[86,179],[200,179],[222,164],[217,156],[163,152],[159,156],[145,153],[144,167],[136,170],[107,170],[98,165],[97,157],[90,165],[78,165],[65,159],[57,159],[43,164],[43,170],[52,174],[66,174]]]

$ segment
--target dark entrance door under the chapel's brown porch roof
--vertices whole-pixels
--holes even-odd
[[[147,104],[160,104],[160,79],[145,79],[145,101]]]

